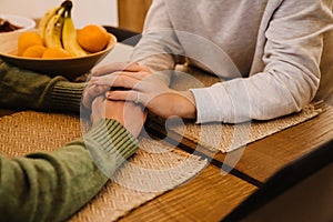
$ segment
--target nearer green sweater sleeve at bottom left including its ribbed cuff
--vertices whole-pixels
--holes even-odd
[[[120,132],[120,133],[119,133]],[[115,140],[115,134],[123,140]],[[127,142],[124,142],[127,141]],[[117,121],[99,121],[84,140],[50,153],[0,159],[0,214],[3,221],[63,221],[94,196],[108,181],[85,147],[107,151],[113,173],[131,157],[137,140]]]

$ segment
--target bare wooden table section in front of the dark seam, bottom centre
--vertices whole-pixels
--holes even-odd
[[[120,221],[220,221],[255,189],[209,165],[195,179],[141,205]]]

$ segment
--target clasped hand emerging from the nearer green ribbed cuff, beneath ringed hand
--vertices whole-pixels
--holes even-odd
[[[142,107],[133,102],[111,101],[103,95],[98,97],[91,105],[92,123],[100,119],[113,119],[124,125],[134,137],[138,137],[147,119]]]

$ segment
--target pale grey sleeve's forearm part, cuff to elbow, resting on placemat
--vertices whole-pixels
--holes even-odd
[[[281,80],[268,73],[234,79],[210,88],[192,89],[196,102],[196,122],[238,123],[270,120],[302,110],[311,101],[311,88],[304,80]],[[296,85],[303,85],[297,88]]]

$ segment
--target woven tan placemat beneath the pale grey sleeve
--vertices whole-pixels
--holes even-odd
[[[178,72],[173,74],[171,81],[171,88],[176,90],[208,87],[221,81],[214,75],[191,67],[179,65],[176,70]],[[153,121],[165,127],[168,131],[175,133],[174,140],[186,138],[212,151],[225,153],[310,120],[320,114],[323,109],[323,104],[309,104],[301,112],[294,114],[270,121],[251,121],[239,124],[195,124],[194,122],[184,122],[180,119],[170,119],[165,122],[165,120],[161,120],[158,117],[154,117],[155,120]]]

